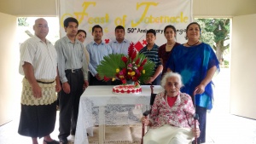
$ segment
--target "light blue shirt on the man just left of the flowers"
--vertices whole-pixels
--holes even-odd
[[[94,41],[88,43],[86,49],[90,55],[89,70],[91,74],[95,76],[98,73],[96,71],[97,66],[100,65],[104,56],[112,54],[112,49],[106,43],[97,44]]]

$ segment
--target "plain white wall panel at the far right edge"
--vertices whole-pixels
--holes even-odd
[[[233,18],[230,113],[256,119],[256,14]]]

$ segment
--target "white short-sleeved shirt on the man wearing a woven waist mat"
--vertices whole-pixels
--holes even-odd
[[[32,64],[36,79],[55,79],[57,76],[57,53],[48,40],[44,43],[37,36],[33,36],[22,43],[19,72],[24,76],[22,66],[25,62]]]

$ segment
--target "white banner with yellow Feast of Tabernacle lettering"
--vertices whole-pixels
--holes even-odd
[[[91,28],[102,26],[105,43],[112,41],[115,26],[125,27],[125,38],[145,45],[148,29],[155,29],[157,45],[166,43],[164,28],[177,29],[177,42],[185,42],[185,29],[192,22],[192,0],[60,0],[61,37],[66,35],[63,21],[79,20],[79,29],[87,32],[85,43],[93,40]]]

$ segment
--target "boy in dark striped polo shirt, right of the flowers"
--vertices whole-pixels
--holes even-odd
[[[148,85],[160,85],[160,73],[163,71],[163,66],[158,57],[159,46],[154,43],[155,39],[155,31],[153,29],[148,30],[146,34],[146,41],[148,44],[139,52],[140,54],[147,56],[148,60],[153,61],[155,64],[154,74],[149,78],[148,82],[146,82]]]

